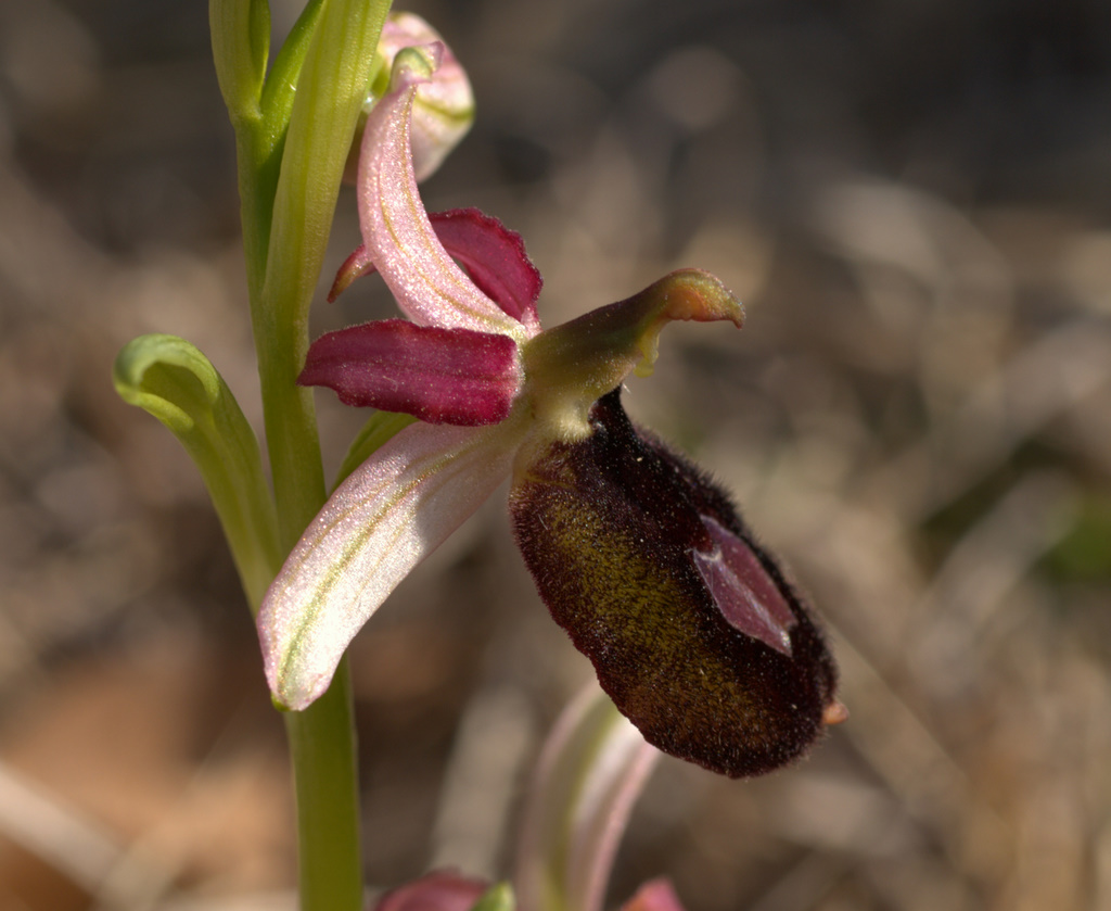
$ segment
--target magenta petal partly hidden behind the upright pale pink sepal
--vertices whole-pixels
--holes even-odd
[[[429,220],[483,294],[514,319],[539,325],[537,299],[543,279],[517,231],[474,208],[433,212]]]

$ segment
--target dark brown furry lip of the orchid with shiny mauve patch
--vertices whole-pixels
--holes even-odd
[[[728,495],[638,430],[619,390],[590,420],[510,494],[552,616],[660,750],[732,778],[802,755],[840,710],[802,600]]]

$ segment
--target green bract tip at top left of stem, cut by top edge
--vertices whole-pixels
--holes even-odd
[[[209,0],[209,28],[217,81],[231,120],[253,120],[270,53],[270,6],[267,0]]]

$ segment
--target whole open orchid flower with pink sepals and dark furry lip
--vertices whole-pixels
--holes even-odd
[[[421,204],[412,108],[442,55],[394,58],[362,139],[363,242],[333,288],[377,270],[409,320],[323,336],[300,377],[419,420],[336,489],[271,585],[258,622],[274,699],[317,699],[393,587],[510,477],[542,598],[644,737],[732,776],[782,765],[843,714],[823,637],[729,497],[620,404],[664,325],[740,327],[741,305],[684,269],[542,330],[521,238]]]

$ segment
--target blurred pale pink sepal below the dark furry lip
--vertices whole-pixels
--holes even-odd
[[[517,911],[602,911],[621,834],[659,755],[595,683],[563,711],[524,806]]]

